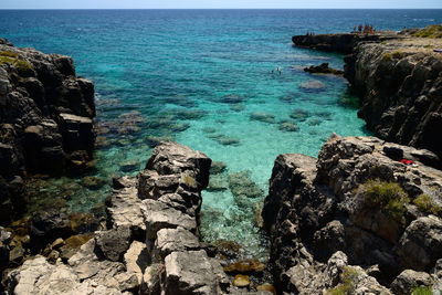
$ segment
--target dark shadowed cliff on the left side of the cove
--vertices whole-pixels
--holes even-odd
[[[25,208],[23,176],[87,166],[94,116],[94,85],[71,57],[0,39],[0,224]]]

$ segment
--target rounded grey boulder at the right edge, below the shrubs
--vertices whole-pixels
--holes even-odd
[[[430,271],[442,257],[442,221],[435,217],[411,222],[398,243],[402,265],[415,271]]]

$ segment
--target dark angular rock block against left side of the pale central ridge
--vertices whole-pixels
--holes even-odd
[[[97,249],[110,261],[122,261],[124,253],[129,247],[130,229],[126,226],[114,228],[95,233]]]

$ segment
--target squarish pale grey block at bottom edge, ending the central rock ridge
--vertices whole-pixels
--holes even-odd
[[[202,250],[172,252],[165,259],[165,268],[167,295],[219,294],[222,284],[229,284],[219,262]]]

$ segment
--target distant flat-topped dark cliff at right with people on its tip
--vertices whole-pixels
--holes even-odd
[[[442,46],[408,32],[293,36],[297,46],[349,54],[345,77],[361,97],[358,116],[376,136],[435,152],[441,167]]]

